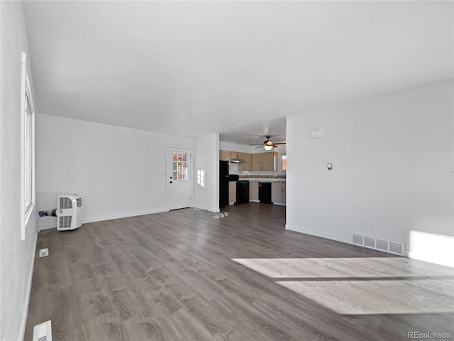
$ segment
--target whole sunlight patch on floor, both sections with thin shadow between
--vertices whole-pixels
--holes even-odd
[[[404,257],[232,259],[344,315],[454,313],[454,269]]]

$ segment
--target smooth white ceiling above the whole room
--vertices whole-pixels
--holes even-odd
[[[453,77],[452,1],[24,1],[38,112],[221,141]]]

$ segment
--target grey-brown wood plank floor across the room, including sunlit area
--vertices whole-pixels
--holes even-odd
[[[454,337],[453,269],[284,229],[285,207],[185,209],[45,230],[25,340]]]

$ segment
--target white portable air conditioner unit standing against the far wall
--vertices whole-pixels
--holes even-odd
[[[77,229],[82,225],[82,198],[77,194],[60,194],[57,199],[57,230]]]

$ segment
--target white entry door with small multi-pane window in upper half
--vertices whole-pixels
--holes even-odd
[[[191,207],[191,151],[170,148],[169,209]]]

